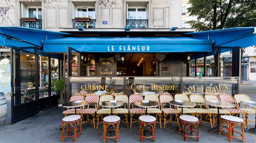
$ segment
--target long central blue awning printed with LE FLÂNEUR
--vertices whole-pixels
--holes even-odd
[[[212,40],[192,37],[61,37],[43,40],[44,52],[211,52]]]

